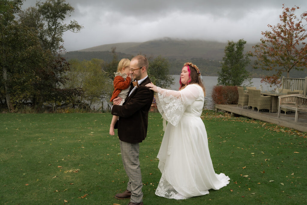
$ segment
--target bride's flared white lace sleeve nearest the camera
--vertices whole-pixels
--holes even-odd
[[[169,123],[177,126],[186,106],[192,104],[199,97],[199,89],[188,85],[181,91],[161,89],[157,92],[157,108]]]

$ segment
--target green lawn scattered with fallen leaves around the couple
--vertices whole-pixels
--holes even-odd
[[[0,114],[1,204],[121,204],[126,189],[118,137],[110,113]],[[306,204],[306,133],[246,118],[204,114],[216,173],[230,183],[186,200],[154,194],[163,137],[150,113],[140,144],[143,202],[155,204]],[[67,201],[67,202],[66,202]]]

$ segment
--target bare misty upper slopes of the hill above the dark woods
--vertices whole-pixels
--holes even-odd
[[[87,49],[79,50],[80,52],[92,51],[111,51],[112,47],[116,47],[116,52],[126,53],[130,55],[146,54],[156,57],[161,55],[163,57],[175,59],[190,59],[203,58],[209,60],[222,60],[224,56],[224,49],[227,42],[221,43],[217,41],[203,41],[203,40],[182,40],[164,37],[146,42],[129,42],[129,43],[114,43],[99,45]],[[246,44],[246,51],[252,50],[252,44]]]

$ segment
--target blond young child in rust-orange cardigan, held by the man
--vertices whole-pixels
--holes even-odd
[[[120,105],[122,105],[126,99],[126,96],[130,89],[131,77],[130,77],[130,60],[128,58],[123,58],[119,61],[117,66],[117,73],[114,78],[114,91],[111,97],[110,102],[112,102],[116,97],[121,97],[123,100]],[[115,135],[114,125],[118,120],[118,116],[113,115],[111,125],[110,125],[110,135]]]

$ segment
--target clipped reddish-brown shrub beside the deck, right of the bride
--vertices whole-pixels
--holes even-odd
[[[212,89],[211,97],[215,104],[238,104],[238,87],[216,85]]]

